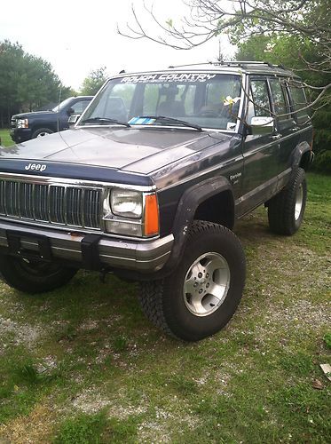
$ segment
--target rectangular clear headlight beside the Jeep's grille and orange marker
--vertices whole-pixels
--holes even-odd
[[[143,215],[143,194],[131,190],[112,190],[110,207],[116,216],[141,218]]]

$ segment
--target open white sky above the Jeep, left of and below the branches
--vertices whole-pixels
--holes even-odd
[[[48,60],[61,81],[75,90],[99,67],[114,75],[122,69],[137,72],[217,59],[218,37],[193,50],[177,51],[120,36],[117,24],[123,29],[127,22],[134,24],[131,4],[146,28],[157,35],[143,0],[13,0],[1,4],[0,41],[19,42],[24,51]],[[146,4],[154,4],[163,23],[171,19],[178,24],[187,14],[181,0],[146,0]],[[225,55],[233,54],[226,38],[221,39],[221,48]]]

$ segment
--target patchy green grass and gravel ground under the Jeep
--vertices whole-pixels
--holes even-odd
[[[263,208],[236,226],[244,296],[197,344],[163,336],[114,276],[38,296],[0,284],[0,441],[330,442],[331,180],[308,182],[295,236]]]

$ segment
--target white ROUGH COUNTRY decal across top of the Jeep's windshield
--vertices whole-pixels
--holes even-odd
[[[182,74],[148,74],[123,77],[121,83],[170,83],[170,82],[206,82],[216,74],[182,73]]]

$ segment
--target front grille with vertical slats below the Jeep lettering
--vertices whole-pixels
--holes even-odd
[[[0,217],[100,229],[102,188],[0,179]]]

